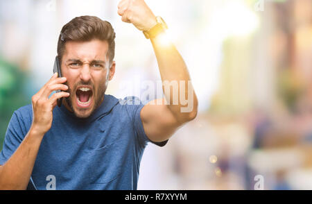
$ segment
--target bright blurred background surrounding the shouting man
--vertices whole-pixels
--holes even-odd
[[[121,84],[160,80],[150,42],[121,22],[118,3],[0,1],[1,148],[14,110],[51,77],[73,17],[96,15],[115,29],[107,94],[140,96]],[[163,148],[147,146],[138,189],[255,189],[258,178],[263,189],[312,189],[312,0],[146,3],[187,63],[199,112]]]

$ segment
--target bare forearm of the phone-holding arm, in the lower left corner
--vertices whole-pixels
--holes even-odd
[[[42,135],[31,128],[10,159],[0,167],[0,189],[26,189]]]

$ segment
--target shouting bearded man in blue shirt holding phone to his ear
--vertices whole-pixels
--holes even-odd
[[[123,22],[150,38],[162,80],[189,82],[175,46],[157,43],[164,22],[146,3],[123,0],[118,8]],[[171,103],[173,92],[146,105],[135,97],[119,101],[106,95],[116,67],[114,37],[110,23],[97,17],[76,17],[62,28],[58,58],[63,77],[54,74],[32,97],[32,105],[12,115],[0,154],[0,189],[27,189],[30,183],[36,189],[137,189],[147,142],[164,146],[177,128],[196,117],[194,92],[189,93],[190,111],[181,111],[182,102]],[[191,84],[177,84],[179,93],[189,97]],[[61,91],[49,98],[56,90]]]

